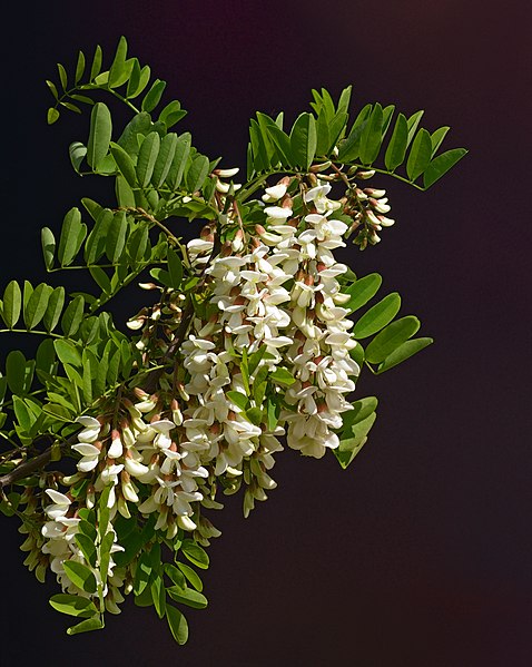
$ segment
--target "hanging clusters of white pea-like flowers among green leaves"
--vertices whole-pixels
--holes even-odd
[[[306,213],[295,217],[287,182],[266,188],[264,220],[255,234],[240,228],[214,258],[211,235],[188,243],[193,267],[210,290],[215,315],[191,318],[177,352],[184,375],[176,395],[168,401],[137,389],[134,401],[122,399],[127,414],[119,423],[98,415],[78,418],[83,428],[71,447],[77,472],[63,483],[87,479],[86,498],[47,489],[51,504],[45,508],[48,521],[41,531],[40,549],[63,591],[90,597],[63,566],[67,560],[90,566],[75,539],[79,511],[93,508],[106,487],[110,485],[107,531],[114,533],[114,543],[104,596],[106,608],[117,612],[122,592],[131,589],[131,573],[112,561],[112,553],[122,550],[112,520],[117,514],[129,518],[130,504],[145,517],[155,514],[155,529],[167,538],[180,528],[208,545],[219,531],[200,509],[221,507],[214,500],[217,479],[228,490],[244,481],[247,516],[255,500],[265,500],[266,491],[276,487],[268,471],[283,449],[279,438],[315,458],[338,447],[336,431],[352,408],[347,394],[359,373],[349,355],[356,342],[349,312],[343,307],[348,295],[338,281],[347,267],[334,256],[346,245],[347,225],[335,219],[342,204],[327,197],[331,186],[319,180],[303,195]],[[390,209],[383,195],[384,190],[370,193],[376,214]],[[387,218],[370,213],[374,229],[386,226]],[[260,353],[259,361],[247,377],[243,357],[255,353]],[[268,379],[279,370],[292,376],[290,383],[272,384]],[[268,404],[268,382],[284,399],[273,420],[264,416],[275,411]],[[258,409],[255,413],[262,416],[250,419],[249,409]],[[98,580],[98,567],[91,569]]]

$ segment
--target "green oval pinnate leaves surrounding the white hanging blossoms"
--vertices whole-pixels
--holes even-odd
[[[4,493],[2,488],[0,510],[8,516],[19,516],[31,533],[32,521],[37,524],[49,518],[43,513],[49,502],[42,492],[43,483],[55,489],[60,483],[68,485],[69,501],[85,501],[85,507],[80,503],[76,509],[79,522],[71,541],[83,562],[68,558],[62,561],[68,580],[79,595],[67,587],[67,592],[50,599],[50,606],[57,611],[80,619],[68,628],[69,635],[101,629],[105,611],[117,612],[112,600],[112,568],[116,567],[127,572],[136,605],[154,607],[159,618],[167,619],[176,641],[185,644],[188,624],[180,607],[203,609],[207,606],[197,570],[209,566],[204,549],[209,542],[199,529],[193,530],[195,523],[190,528],[193,520],[201,523],[203,506],[196,501],[199,509],[190,511],[193,518],[184,517],[181,510],[176,512],[178,522],[165,532],[159,512],[149,507],[140,511],[135,501],[136,494],[142,500],[147,498],[146,478],[125,491],[131,481],[126,465],[116,485],[105,481],[104,453],[98,461],[92,459],[95,478],[75,474],[67,483],[68,478],[63,477],[67,468],[61,468],[61,458],[71,455],[68,445],[76,442],[80,421],[83,421],[80,418],[105,415],[107,420],[108,430],[102,435],[106,443],[91,440],[98,445],[96,450],[96,445],[86,447],[92,452],[90,455],[96,451],[98,457],[98,448],[109,445],[109,432],[121,429],[126,415],[127,420],[140,419],[140,413],[131,406],[131,399],[137,391],[141,394],[145,388],[149,389],[152,377],[156,377],[158,396],[168,400],[176,392],[181,398],[186,395],[187,371],[175,363],[178,345],[185,340],[191,318],[210,322],[220,307],[217,298],[213,298],[213,285],[205,279],[204,271],[213,257],[238,247],[242,236],[249,245],[257,234],[265,232],[264,203],[259,198],[252,200],[250,196],[267,186],[269,177],[287,176],[287,203],[294,210],[294,219],[299,220],[309,209],[304,195],[311,187],[328,182],[345,186],[345,198],[339,204],[343,208],[332,213],[329,219],[347,224],[347,236],[362,224],[361,217],[367,215],[364,200],[372,199],[372,192],[376,190],[368,189],[368,194],[361,195],[357,183],[373,170],[427,189],[466,151],[456,148],[439,154],[449,127],[432,134],[421,128],[423,111],[394,116],[393,105],[368,104],[349,122],[351,86],[342,91],[337,101],[322,88],[312,91],[312,111],[298,115],[292,127],[286,126],[289,128],[286,131],[283,114],[276,118],[256,114],[249,128],[247,179],[235,184],[231,176],[227,176],[234,173],[224,175],[217,169],[219,160],[200,154],[193,146],[189,133],[170,131],[186,111],[178,100],[162,101],[166,82],[152,79],[149,66],[129,57],[124,37],[107,65],[99,46],[91,58],[79,51],[71,65],[59,63],[57,80],[47,81],[53,98],[53,106],[47,112],[48,122],[56,122],[63,110],[80,112],[90,108],[86,143],[70,144],[70,163],[80,176],[108,178],[114,185],[116,202],[100,204],[85,197],[66,213],[61,224],[51,222],[41,232],[46,271],[49,274],[85,272],[92,281],[87,292],[68,293],[53,282],[55,276],[51,284],[10,281],[3,287],[1,331],[10,336],[37,334],[41,342],[35,359],[26,359],[21,351],[12,350],[0,369],[0,442],[3,448],[0,475],[4,480],[6,475],[16,473],[19,465],[24,469],[40,455],[45,463],[36,469],[30,465],[26,477],[20,474],[13,483],[4,484],[22,487],[30,496],[33,493],[32,501],[37,503],[33,518],[28,519],[21,509],[28,500],[20,489]],[[100,100],[102,96],[107,96],[106,101]],[[114,116],[112,105],[117,100],[130,111],[122,128],[117,127]],[[375,202],[372,206],[375,207]],[[228,214],[231,207],[233,218]],[[211,254],[204,255],[200,269],[179,236],[184,223],[197,219],[204,227],[201,238],[215,238]],[[370,222],[373,227],[364,228],[355,241],[361,247],[378,241],[372,233],[381,230],[380,222],[387,226],[382,216],[374,215]],[[147,282],[148,276],[157,284]],[[295,282],[301,279],[294,277]],[[131,317],[128,325],[134,333],[126,334],[115,325],[107,306],[111,300],[121,297],[128,285],[139,281],[156,302]],[[356,315],[351,340],[354,346],[349,350],[351,357],[361,367],[381,374],[432,343],[428,337],[413,337],[420,328],[417,317],[396,318],[401,307],[397,293],[371,305],[382,284],[378,274],[357,278],[347,272],[338,281],[342,288],[338,296],[345,300],[342,303],[338,300],[338,306],[345,307],[349,315],[365,307]],[[290,278],[287,285],[292,284]],[[311,311],[315,317],[317,298]],[[209,334],[206,337],[209,340]],[[276,363],[266,345],[253,352],[246,347],[237,352],[228,346],[227,352],[234,360],[233,372],[242,377],[236,388],[224,385],[230,410],[238,413],[246,428],[266,426],[273,432],[278,424],[283,425],[285,412],[295,410],[288,396],[294,391],[290,388],[302,381],[301,375],[289,363]],[[321,362],[316,359],[313,363]],[[146,395],[151,391],[152,388]],[[376,419],[376,406],[377,399],[370,396],[356,401],[353,410],[343,414],[343,426],[337,430],[339,447],[334,450],[343,468],[366,442]],[[150,418],[157,421],[158,413],[157,404]],[[128,448],[134,450],[135,445],[130,443]],[[114,457],[107,455],[105,465],[110,465]],[[136,463],[144,465],[146,461]],[[45,474],[46,465],[53,467],[53,471],[47,470]],[[208,481],[204,480],[206,485],[211,484],[211,494],[206,492],[204,497],[205,508],[220,507],[215,500],[214,479],[227,494],[245,487],[246,511],[249,502],[253,508],[255,500],[265,499],[264,489],[272,484],[265,467],[254,457],[243,461],[242,470],[228,467],[217,475],[211,468],[209,464]],[[53,496],[50,489],[48,492]],[[90,504],[89,494],[93,497]],[[116,503],[118,512],[114,509]],[[170,504],[171,497],[162,514],[171,514]],[[188,527],[179,523],[184,519],[188,519]],[[208,526],[208,521],[206,523]],[[39,562],[43,556],[42,537],[40,530],[30,534],[29,543],[35,540],[38,547],[33,545],[26,561],[36,569],[40,580],[46,569]],[[30,545],[28,549],[31,548]],[[174,555],[174,562],[165,561],[168,550]]]

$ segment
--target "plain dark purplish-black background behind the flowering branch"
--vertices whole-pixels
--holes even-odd
[[[285,451],[279,488],[244,520],[215,517],[210,605],[177,647],[155,612],[128,602],[104,632],[68,638],[68,619],[2,528],[2,667],[41,664],[361,667],[530,665],[530,16],[523,2],[358,0],[11,3],[2,29],[1,284],[46,279],[39,230],[58,229],[98,184],[70,170],[88,116],[48,128],[56,62],[120,35],[168,81],[196,146],[244,167],[254,111],[306,108],[311,88],[354,104],[426,110],[470,154],[428,193],[375,179],[395,227],[344,256],[403,296],[428,350],[363,375],[380,398],[356,462],[342,471]],[[106,61],[107,63],[109,60]],[[72,288],[73,282],[69,283]],[[384,294],[384,292],[383,292]],[[118,317],[135,312],[118,304]],[[29,349],[21,340],[1,343]],[[26,347],[24,347],[26,345]],[[217,520],[217,521],[216,521]]]

